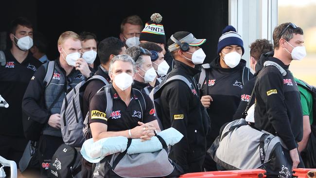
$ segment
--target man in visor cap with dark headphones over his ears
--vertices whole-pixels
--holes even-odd
[[[173,76],[185,77],[189,87],[182,80],[168,82],[161,90],[161,116],[164,129],[176,128],[183,139],[174,145],[169,157],[179,164],[184,172],[200,172],[206,153],[207,113],[200,102],[193,76],[200,71],[194,69],[202,64],[206,55],[199,47],[206,39],[196,39],[189,32],[176,32],[168,40],[168,48],[175,59],[174,69],[163,82]]]

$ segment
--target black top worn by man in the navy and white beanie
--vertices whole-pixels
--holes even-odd
[[[219,130],[227,122],[231,122],[233,115],[240,103],[241,90],[243,89],[242,75],[246,61],[241,59],[235,68],[224,69],[220,66],[220,57],[214,59],[209,70],[206,70],[206,80],[201,87],[201,96],[211,95],[213,102],[207,109],[211,119],[211,138],[213,142],[219,135]],[[250,73],[249,79],[253,75]]]

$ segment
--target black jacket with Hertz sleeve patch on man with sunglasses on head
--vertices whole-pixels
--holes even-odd
[[[289,66],[275,57],[270,56],[266,60],[279,64],[286,75],[282,76],[274,66],[267,66],[258,74],[255,87],[255,126],[280,136],[291,150],[297,147],[296,142],[300,142],[303,136],[303,114],[298,87],[288,70]]]

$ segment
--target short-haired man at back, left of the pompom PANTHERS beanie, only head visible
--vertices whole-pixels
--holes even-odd
[[[143,27],[139,16],[129,16],[121,23],[120,39],[125,42],[126,48],[140,44],[140,32]]]

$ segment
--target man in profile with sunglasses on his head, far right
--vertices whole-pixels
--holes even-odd
[[[291,157],[293,170],[304,167],[298,154],[303,137],[303,114],[300,94],[289,71],[292,60],[301,60],[306,51],[303,30],[293,23],[283,23],[273,31],[274,54],[267,57],[255,86],[255,126],[281,137]],[[273,65],[268,65],[272,63]]]

